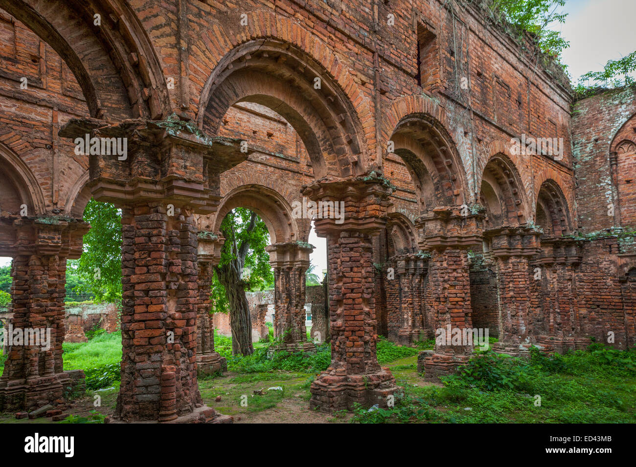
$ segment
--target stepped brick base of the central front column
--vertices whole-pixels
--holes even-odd
[[[352,410],[354,403],[364,407],[378,404],[386,409],[391,395],[403,391],[389,369],[360,375],[345,375],[344,370],[322,373],[312,382],[310,409],[318,408],[328,414],[337,410]]]

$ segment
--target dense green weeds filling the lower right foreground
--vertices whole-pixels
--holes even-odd
[[[636,349],[592,344],[530,358],[478,353],[444,386],[404,384],[390,409],[357,407],[353,423],[634,423]],[[399,382],[399,381],[398,381]],[[400,382],[399,382],[400,383]]]

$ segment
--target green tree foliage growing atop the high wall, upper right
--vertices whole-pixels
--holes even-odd
[[[565,68],[560,61],[561,53],[570,43],[559,31],[549,28],[551,24],[565,22],[567,13],[558,13],[565,0],[485,0],[485,3],[509,33],[522,40],[525,32],[529,32],[539,49]]]

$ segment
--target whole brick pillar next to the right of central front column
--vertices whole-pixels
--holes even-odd
[[[461,215],[459,206],[434,208],[416,221],[420,248],[431,254],[425,308],[436,330],[435,351],[420,354],[418,370],[431,381],[454,372],[473,351],[471,342],[452,336],[472,328],[468,250],[481,245],[482,221],[479,214]]]

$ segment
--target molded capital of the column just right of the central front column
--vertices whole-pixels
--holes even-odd
[[[468,249],[481,245],[484,215],[462,215],[465,206],[438,206],[415,219],[420,250]]]

